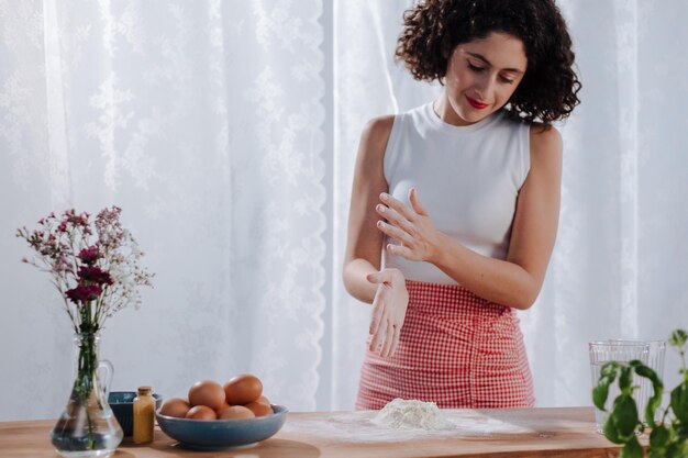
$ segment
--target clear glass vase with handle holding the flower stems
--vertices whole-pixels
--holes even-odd
[[[109,457],[123,437],[108,404],[107,388],[112,380],[112,365],[98,358],[98,334],[77,334],[74,343],[76,378],[67,406],[51,438],[63,457]],[[104,384],[100,372],[104,372]]]

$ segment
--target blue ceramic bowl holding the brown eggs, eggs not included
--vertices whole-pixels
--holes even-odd
[[[287,407],[274,405],[271,415],[243,420],[188,420],[155,413],[160,429],[182,446],[199,450],[246,447],[275,435],[287,421]]]

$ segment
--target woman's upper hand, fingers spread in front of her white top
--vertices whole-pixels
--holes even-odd
[[[435,230],[428,210],[418,199],[415,188],[409,190],[409,208],[390,194],[382,192],[375,210],[387,220],[377,227],[399,245],[387,244],[389,253],[409,260],[432,261],[439,246],[440,233]]]

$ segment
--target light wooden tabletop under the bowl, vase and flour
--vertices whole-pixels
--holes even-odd
[[[592,407],[450,410],[448,433],[384,431],[375,412],[289,413],[282,429],[255,446],[223,451],[182,448],[162,431],[153,444],[125,438],[118,458],[429,458],[429,457],[615,457],[619,447],[595,429]],[[0,457],[54,458],[55,422],[0,423]],[[360,425],[360,426],[359,426]]]

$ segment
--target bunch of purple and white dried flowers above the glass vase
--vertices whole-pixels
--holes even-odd
[[[98,332],[114,312],[138,308],[138,287],[152,286],[153,275],[140,266],[143,252],[122,227],[121,212],[104,209],[91,221],[89,213],[67,210],[41,219],[35,231],[16,233],[36,254],[22,261],[51,273],[76,333]]]

